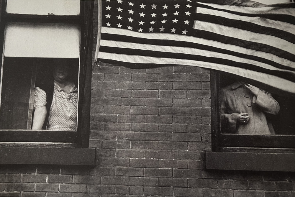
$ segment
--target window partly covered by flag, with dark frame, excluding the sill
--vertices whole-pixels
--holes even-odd
[[[216,75],[217,150],[229,147],[295,148],[294,95],[232,75]],[[261,95],[254,96],[242,84],[244,82],[259,87]],[[240,114],[248,118],[239,121],[237,116]]]

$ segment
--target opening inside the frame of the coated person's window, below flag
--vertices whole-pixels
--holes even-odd
[[[222,133],[295,135],[294,95],[282,95],[227,74],[220,74],[220,86]]]

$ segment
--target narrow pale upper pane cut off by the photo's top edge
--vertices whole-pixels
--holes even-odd
[[[77,0],[7,0],[6,12],[11,14],[78,15]]]

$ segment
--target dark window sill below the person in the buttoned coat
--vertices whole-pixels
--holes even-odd
[[[206,168],[295,172],[295,154],[206,152]]]

